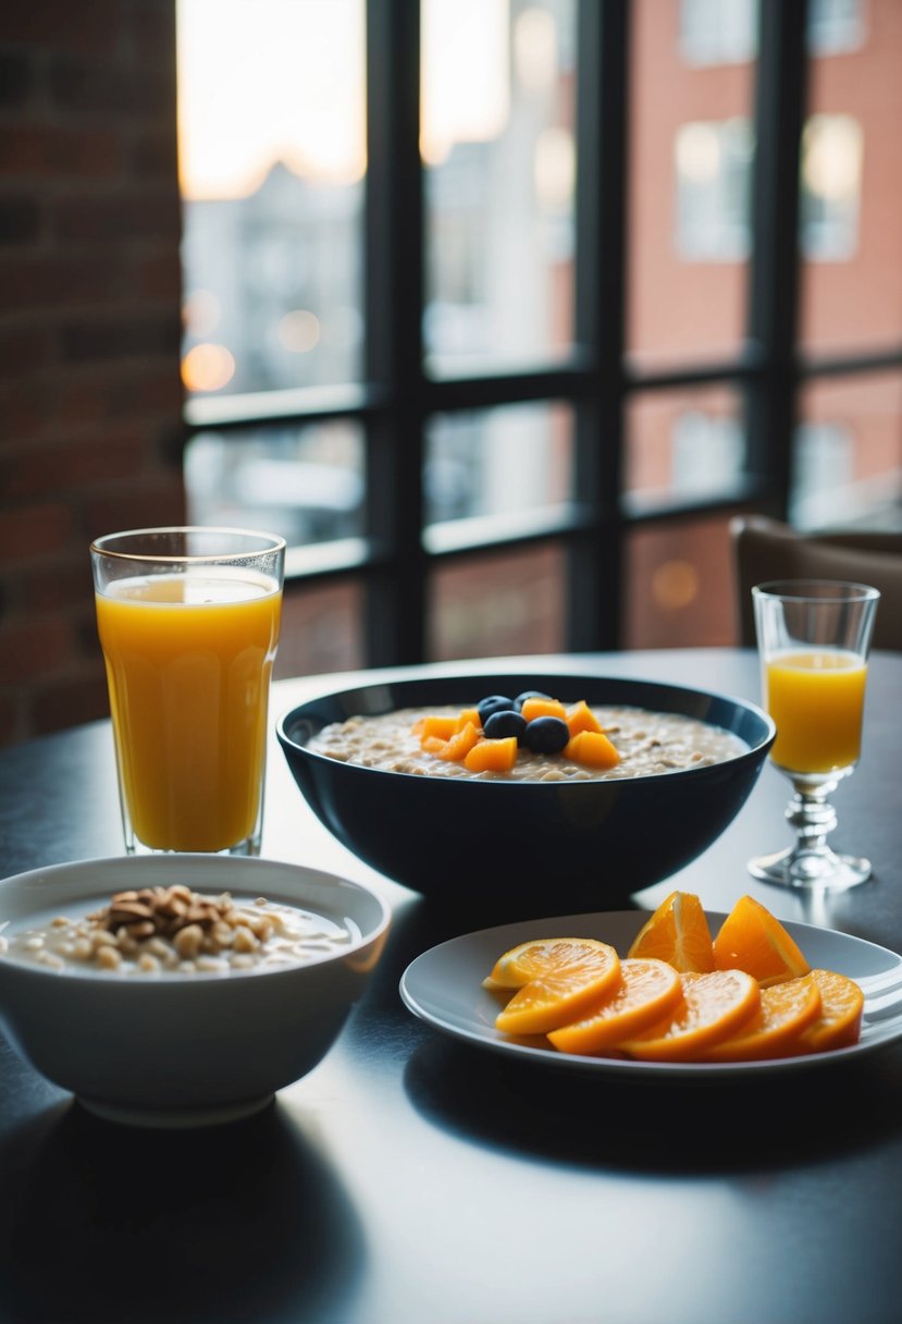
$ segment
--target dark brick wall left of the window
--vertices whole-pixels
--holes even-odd
[[[0,744],[106,716],[87,545],[180,523],[175,0],[0,4]]]

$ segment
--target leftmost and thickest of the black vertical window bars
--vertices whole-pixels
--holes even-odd
[[[419,662],[426,639],[422,547],[425,381],[419,3],[366,5],[366,373],[385,408],[366,428],[369,666]]]

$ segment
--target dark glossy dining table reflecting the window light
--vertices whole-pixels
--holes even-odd
[[[754,650],[734,647],[275,681],[262,854],[378,891],[380,963],[325,1058],[225,1125],[104,1121],[0,1034],[0,1321],[902,1320],[902,1039],[809,1070],[618,1076],[466,1042],[405,1005],[418,956],[499,916],[436,906],[347,850],[300,794],[275,722],[354,683],[505,670],[760,696]],[[874,653],[868,685],[831,838],[872,859],[866,883],[809,895],[749,874],[791,839],[790,786],[767,763],[677,874],[615,907],[599,884],[599,923],[673,890],[710,912],[747,894],[784,923],[902,952],[902,654]],[[0,876],[123,851],[108,720],[0,751]],[[557,914],[549,886],[549,929]]]

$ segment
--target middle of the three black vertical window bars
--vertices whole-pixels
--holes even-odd
[[[575,406],[590,523],[569,544],[567,643],[589,650],[620,643],[628,3],[581,0],[578,15],[575,331],[593,391]]]

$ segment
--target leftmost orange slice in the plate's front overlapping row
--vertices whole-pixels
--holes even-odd
[[[524,984],[495,1019],[505,1034],[546,1034],[578,1021],[620,982],[620,957],[607,943],[586,948],[583,939],[552,944],[557,964]]]

